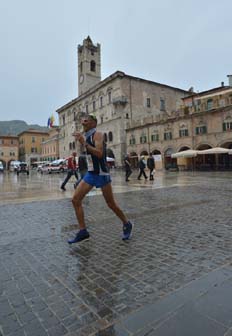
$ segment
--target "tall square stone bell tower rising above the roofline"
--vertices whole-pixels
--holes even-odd
[[[101,81],[101,46],[88,36],[78,45],[78,95]]]

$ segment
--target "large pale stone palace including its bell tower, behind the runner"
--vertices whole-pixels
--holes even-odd
[[[105,133],[108,155],[115,157],[116,165],[121,166],[128,152],[128,125],[133,127],[134,123],[141,125],[141,122],[147,124],[170,117],[180,109],[182,98],[189,95],[188,91],[121,71],[101,80],[100,45],[94,46],[89,37],[78,47],[78,68],[80,95],[57,110],[60,157],[79,150],[72,133],[81,130],[83,114],[94,113],[98,129]]]

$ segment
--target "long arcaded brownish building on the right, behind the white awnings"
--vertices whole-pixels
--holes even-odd
[[[222,83],[221,87],[191,94],[182,101],[179,109],[161,115],[159,120],[128,122],[126,142],[132,158],[152,152],[157,158],[156,169],[200,169],[207,165],[232,168],[232,155],[228,154],[200,155],[194,160],[171,158],[171,154],[186,149],[232,148],[231,79],[228,86]]]

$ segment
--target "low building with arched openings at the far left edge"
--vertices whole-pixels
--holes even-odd
[[[0,161],[5,169],[11,161],[19,159],[19,139],[14,135],[0,135]]]

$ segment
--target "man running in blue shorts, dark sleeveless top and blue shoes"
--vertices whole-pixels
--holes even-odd
[[[85,131],[85,135],[75,132],[73,133],[73,136],[83,147],[86,148],[88,172],[78,184],[72,198],[72,204],[80,229],[74,238],[68,240],[68,243],[79,243],[90,237],[85,224],[82,200],[93,187],[101,188],[103,197],[108,207],[113,210],[113,212],[122,221],[122,239],[128,240],[131,237],[133,224],[128,220],[114,199],[111,177],[106,162],[106,144],[104,141],[104,135],[102,132],[96,130],[97,118],[92,114],[88,114],[82,119],[82,126]]]

